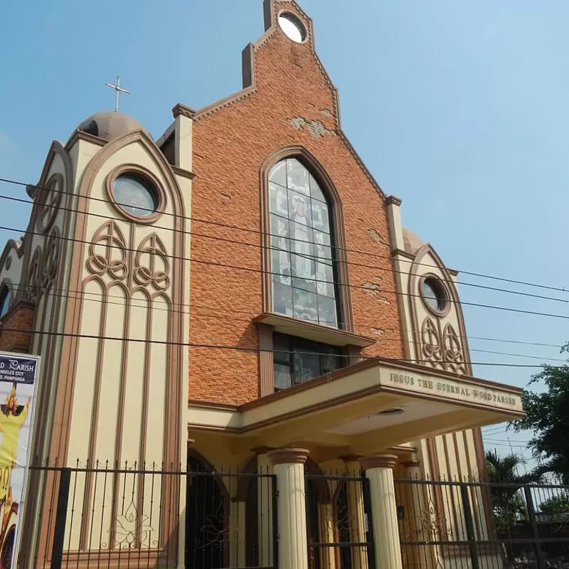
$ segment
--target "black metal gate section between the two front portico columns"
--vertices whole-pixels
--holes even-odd
[[[369,481],[306,474],[309,569],[375,569]]]

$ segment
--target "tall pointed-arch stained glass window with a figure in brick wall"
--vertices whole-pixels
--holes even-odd
[[[269,174],[272,309],[338,327],[329,203],[294,158]]]

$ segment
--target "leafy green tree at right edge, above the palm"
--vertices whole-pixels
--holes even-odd
[[[561,351],[568,352],[569,344]],[[538,459],[534,476],[553,474],[563,484],[569,484],[569,365],[543,366],[529,385],[538,382],[543,382],[547,389],[542,393],[523,391],[521,401],[527,416],[511,426],[516,432],[533,432],[528,448]]]

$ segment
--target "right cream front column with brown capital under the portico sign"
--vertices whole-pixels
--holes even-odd
[[[360,459],[369,480],[376,567],[382,569],[403,569],[393,484],[397,461],[395,454],[373,454]]]

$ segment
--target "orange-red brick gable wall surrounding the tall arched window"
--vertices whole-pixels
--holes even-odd
[[[288,5],[290,6],[290,5]],[[212,220],[260,231],[260,166],[287,144],[302,144],[328,172],[341,197],[346,246],[379,257],[348,252],[354,330],[378,341],[364,353],[403,357],[393,267],[388,257],[388,223],[383,198],[340,136],[314,137],[294,129],[289,119],[317,120],[334,132],[334,92],[319,68],[309,42],[296,44],[277,31],[255,53],[257,90],[213,114],[193,129],[191,257],[247,267],[235,270],[191,263],[192,344],[258,347],[251,319],[262,312],[261,235],[221,228]],[[196,235],[244,241],[237,245]],[[378,243],[378,235],[383,242]],[[379,292],[362,285],[373,283]],[[257,398],[258,355],[223,349],[190,349],[191,399],[245,403]]]

